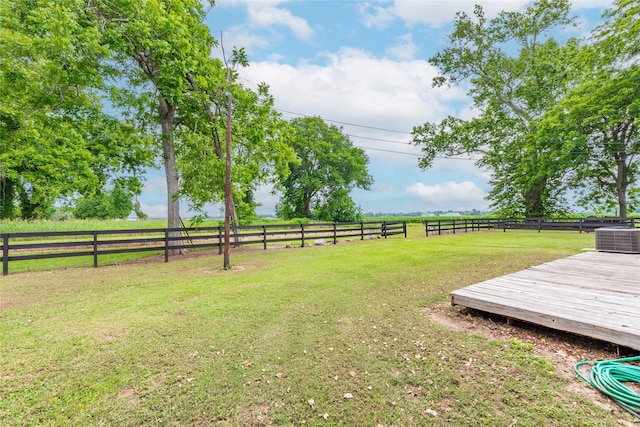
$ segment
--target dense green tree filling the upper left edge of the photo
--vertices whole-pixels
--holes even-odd
[[[84,7],[0,0],[0,217],[47,216],[148,160],[138,131],[102,111],[108,51]]]

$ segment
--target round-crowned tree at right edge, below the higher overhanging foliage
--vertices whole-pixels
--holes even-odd
[[[540,133],[556,138],[570,158],[580,202],[612,208],[626,218],[640,202],[640,66],[600,73],[552,110]]]

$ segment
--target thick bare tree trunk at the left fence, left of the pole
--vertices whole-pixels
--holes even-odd
[[[173,139],[173,120],[176,114],[174,105],[169,104],[162,95],[158,102],[158,115],[160,116],[160,128],[162,130],[162,160],[164,173],[167,180],[167,227],[180,228],[180,199],[178,198],[179,181],[176,170],[176,152]],[[180,241],[173,240],[180,237],[179,231],[169,232],[169,246],[177,246]],[[172,254],[181,253],[180,250],[172,250]]]

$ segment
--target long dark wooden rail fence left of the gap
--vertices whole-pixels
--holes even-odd
[[[324,243],[359,237],[360,240],[385,239],[394,235],[407,237],[405,221],[250,225],[232,228],[234,247],[269,244]],[[100,256],[127,253],[164,253],[169,261],[172,251],[181,249],[213,249],[222,253],[224,227],[156,228],[101,231],[62,231],[33,233],[1,233],[2,275],[9,274],[9,263],[51,258],[92,257],[98,267]]]

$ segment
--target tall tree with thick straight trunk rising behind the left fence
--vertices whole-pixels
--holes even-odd
[[[169,228],[180,227],[179,174],[175,128],[187,102],[187,75],[209,58],[215,40],[203,24],[199,0],[95,0],[89,10],[101,22],[112,62],[128,91],[118,105],[149,120],[155,111],[167,182]]]

